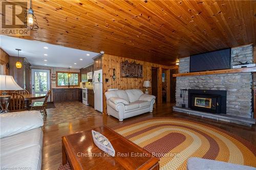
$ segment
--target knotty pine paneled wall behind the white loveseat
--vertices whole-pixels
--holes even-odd
[[[137,64],[143,65],[143,78],[121,78],[120,76],[120,63],[122,61],[136,62]],[[118,88],[118,89],[141,89],[145,90],[143,87],[143,81],[149,80],[151,81],[151,69],[152,67],[159,68],[158,70],[158,103],[162,103],[162,69],[167,69],[166,77],[167,77],[167,88],[169,90],[169,78],[170,78],[170,69],[175,69],[177,66],[165,66],[155,63],[150,63],[146,61],[133,60],[129,58],[123,58],[118,56],[113,56],[109,54],[103,55],[103,113],[106,113],[106,99],[104,93],[108,91],[108,89]],[[113,76],[113,68],[116,69],[116,80],[114,81]],[[109,79],[108,82],[105,79]],[[151,94],[151,88],[148,88],[148,91]],[[169,91],[167,92],[167,102],[170,100]]]

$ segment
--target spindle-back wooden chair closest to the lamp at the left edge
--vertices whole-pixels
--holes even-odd
[[[23,111],[26,109],[24,96],[22,94],[17,92],[8,92],[8,95],[11,95],[8,107],[10,112]]]

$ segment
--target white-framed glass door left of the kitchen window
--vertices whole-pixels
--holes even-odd
[[[32,94],[47,94],[50,90],[50,70],[32,69]],[[50,102],[50,98],[48,98]]]

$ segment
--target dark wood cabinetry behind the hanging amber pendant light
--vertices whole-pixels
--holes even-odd
[[[22,68],[16,67],[16,62],[19,61],[22,63]],[[13,57],[10,56],[9,58],[9,74],[13,76],[14,80],[17,82],[17,84],[22,87],[23,89],[28,90],[31,92],[30,89],[30,66],[31,64],[25,57]]]

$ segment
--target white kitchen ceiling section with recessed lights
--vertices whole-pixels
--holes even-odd
[[[3,35],[0,35],[0,46],[10,56],[18,56],[15,48],[21,49],[19,56],[26,57],[31,65],[52,67],[68,68],[72,66],[72,68],[82,68],[91,64],[93,62],[92,58],[99,55],[99,53]]]

